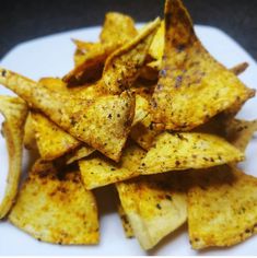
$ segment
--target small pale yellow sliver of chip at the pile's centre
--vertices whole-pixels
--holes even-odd
[[[136,107],[132,126],[143,120],[149,114],[149,101],[143,96],[136,94]]]

